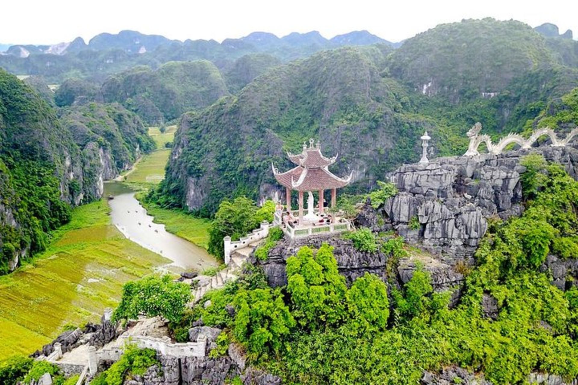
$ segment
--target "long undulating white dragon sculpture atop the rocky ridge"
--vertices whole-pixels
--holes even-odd
[[[505,137],[500,139],[500,141],[497,144],[493,144],[490,136],[486,134],[484,135],[479,134],[480,130],[481,130],[481,123],[477,122],[468,131],[467,135],[470,139],[470,143],[468,145],[468,151],[466,151],[464,156],[480,155],[480,153],[477,151],[477,148],[482,142],[486,142],[486,147],[488,148],[488,152],[490,154],[497,155],[501,154],[503,149],[506,148],[506,146],[510,143],[516,143],[520,145],[521,148],[530,148],[532,144],[536,140],[538,140],[539,137],[547,135],[550,137],[550,140],[552,141],[551,145],[555,147],[560,147],[563,145],[568,145],[570,140],[572,140],[573,137],[578,135],[578,128],[575,128],[572,131],[570,131],[570,133],[566,135],[564,139],[558,139],[558,136],[554,133],[553,129],[540,128],[538,130],[535,130],[528,139],[525,139],[523,136],[519,134],[509,133]]]

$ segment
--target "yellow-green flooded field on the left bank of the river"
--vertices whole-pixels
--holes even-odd
[[[124,238],[108,212],[104,200],[75,208],[46,252],[0,277],[0,361],[40,349],[66,324],[97,321],[123,283],[169,263]]]

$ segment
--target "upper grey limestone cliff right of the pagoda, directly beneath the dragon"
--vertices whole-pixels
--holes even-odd
[[[438,158],[427,165],[405,165],[391,175],[399,193],[377,211],[364,208],[360,225],[393,227],[412,244],[436,253],[445,263],[472,261],[488,219],[523,212],[520,161],[531,152],[578,174],[578,151],[540,147],[506,154]]]

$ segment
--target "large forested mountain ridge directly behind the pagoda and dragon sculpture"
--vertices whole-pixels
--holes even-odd
[[[481,38],[480,38],[481,36]],[[523,23],[493,19],[444,24],[387,46],[327,50],[269,69],[240,91],[181,119],[161,195],[206,214],[227,196],[272,196],[270,162],[320,139],[364,189],[417,160],[418,136],[436,155],[460,154],[476,121],[487,133],[521,131],[552,98],[578,85]]]

